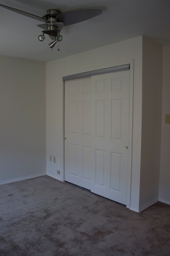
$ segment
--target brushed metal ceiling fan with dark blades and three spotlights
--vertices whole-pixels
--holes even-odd
[[[56,9],[48,9],[46,11],[46,15],[43,17],[36,16],[34,14],[24,12],[3,4],[0,4],[1,7],[4,7],[13,12],[17,12],[19,14],[25,15],[27,17],[45,22],[45,24],[37,25],[42,28],[42,35],[39,36],[39,40],[43,41],[45,39],[44,34],[47,34],[53,41],[49,43],[49,47],[52,49],[57,42],[62,41],[62,36],[60,35],[60,31],[63,26],[72,25],[81,21],[85,21],[91,19],[95,16],[98,16],[102,13],[99,9],[91,9],[91,10],[80,10],[73,11],[67,13],[60,13]],[[58,49],[59,50],[59,49]]]

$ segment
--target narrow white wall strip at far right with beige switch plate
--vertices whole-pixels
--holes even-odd
[[[170,124],[165,115],[170,114],[170,45],[163,47],[162,137],[159,200],[170,204]]]

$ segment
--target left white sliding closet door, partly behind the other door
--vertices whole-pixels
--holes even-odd
[[[65,180],[91,189],[91,78],[65,81]]]

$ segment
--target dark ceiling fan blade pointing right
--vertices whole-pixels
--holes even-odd
[[[84,20],[91,19],[102,13],[101,10],[82,10],[74,12],[66,12],[56,15],[57,20],[64,23],[64,26],[72,25]]]

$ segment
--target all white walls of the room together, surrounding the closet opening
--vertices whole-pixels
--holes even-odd
[[[130,209],[139,211],[157,200],[161,51],[162,47],[150,39],[137,37],[46,63],[46,159],[45,63],[0,56],[0,184],[43,175],[46,170],[48,175],[63,180],[62,76],[133,59]],[[170,204],[170,124],[165,124],[165,114],[170,114],[169,70],[167,45],[163,47],[159,200]],[[56,164],[49,161],[49,155],[56,156]],[[60,170],[60,175],[56,170]]]

